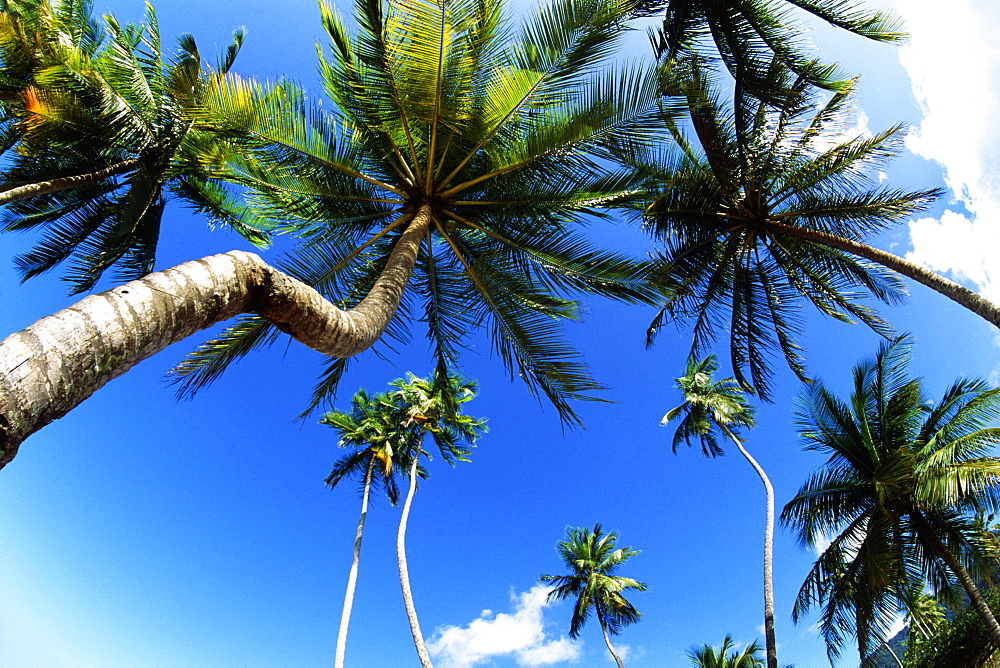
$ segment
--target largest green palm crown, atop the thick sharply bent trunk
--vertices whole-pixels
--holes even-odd
[[[320,74],[333,104],[289,81],[220,86],[211,118],[241,146],[220,176],[246,187],[261,215],[298,227],[305,241],[283,270],[345,307],[429,215],[389,334],[426,323],[452,367],[483,325],[512,375],[572,420],[568,400],[599,386],[561,337],[560,321],[578,317],[569,295],[655,300],[644,263],[579,231],[636,185],[616,156],[662,133],[654,73],[605,67],[639,9],[555,0],[515,29],[499,2],[372,1],[357,3],[350,29],[323,4]],[[276,334],[258,319],[237,324],[178,370],[185,388]],[[345,364],[329,363],[314,406]]]

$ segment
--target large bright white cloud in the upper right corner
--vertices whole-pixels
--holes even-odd
[[[1000,298],[1000,5],[952,0],[897,0],[910,33],[900,61],[922,118],[907,138],[914,153],[940,163],[955,201],[967,212],[910,224],[907,258],[974,283]],[[992,228],[989,231],[987,228]]]

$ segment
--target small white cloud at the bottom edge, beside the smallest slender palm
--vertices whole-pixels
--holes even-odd
[[[550,605],[548,592],[538,584],[512,594],[512,614],[484,610],[467,626],[438,629],[427,649],[445,668],[466,668],[503,655],[512,655],[520,666],[577,661],[580,642],[565,637],[551,640],[545,633],[542,611]]]

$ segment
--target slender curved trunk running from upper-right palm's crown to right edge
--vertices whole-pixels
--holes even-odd
[[[880,250],[857,241],[844,239],[843,237],[826,234],[824,232],[817,232],[816,230],[807,230],[793,225],[785,225],[784,223],[769,222],[768,227],[776,232],[780,232],[790,237],[805,239],[807,241],[815,241],[816,243],[823,244],[824,246],[829,246],[830,248],[836,248],[837,250],[858,255],[880,264],[883,267],[892,269],[898,274],[902,274],[907,278],[911,278],[918,283],[926,285],[931,290],[941,293],[948,299],[951,299],[955,303],[967,308],[997,327],[1000,327],[1000,307],[996,304],[988,299],[984,299],[972,290],[962,287],[958,283],[950,281],[944,276],[936,274],[929,269],[925,269],[918,264],[904,260],[898,255],[887,253],[884,250]]]

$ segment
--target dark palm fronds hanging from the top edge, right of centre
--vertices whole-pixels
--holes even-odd
[[[819,0],[803,2],[739,2],[738,0],[666,0],[663,26],[653,37],[657,56],[673,61],[685,53],[711,56],[714,52],[747,89],[774,96],[767,76],[772,60],[782,63],[813,85],[837,90],[844,84],[836,66],[821,66],[807,53],[790,6],[855,35],[878,42],[906,38],[900,21],[890,12],[868,11],[861,2]]]

